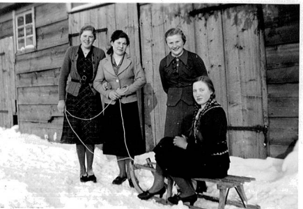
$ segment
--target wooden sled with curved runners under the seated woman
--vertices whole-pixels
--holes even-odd
[[[139,180],[137,179],[137,176],[135,174],[135,171],[137,169],[146,169],[148,171],[151,171],[152,173],[155,173],[155,162],[150,162],[150,158],[146,159],[146,164],[134,164],[134,162],[130,162],[130,169],[127,173],[127,175],[132,178],[132,183],[134,183],[135,189],[137,189],[137,192],[142,193],[144,190],[140,187],[139,185]],[[208,201],[216,201],[219,203],[218,209],[224,209],[225,205],[232,205],[232,206],[237,206],[239,208],[248,208],[248,209],[261,209],[260,206],[258,205],[249,205],[247,203],[247,196],[244,191],[244,183],[249,183],[253,180],[256,180],[255,178],[248,178],[244,176],[231,176],[228,175],[225,178],[194,178],[196,181],[205,181],[209,183],[215,183],[217,184],[217,189],[219,189],[219,198],[213,197],[213,196],[208,196],[205,194],[198,194],[199,198],[206,199]],[[153,196],[153,199],[155,201],[166,204],[166,205],[171,205],[167,199],[169,196],[172,196],[172,189],[173,189],[173,180],[171,178],[167,178],[167,185],[166,186],[166,199],[160,199],[158,197]],[[228,192],[229,189],[235,188],[236,192],[238,193],[238,196],[240,197],[241,201],[231,201],[228,200]],[[189,204],[185,203],[189,208],[192,209],[197,209],[199,207],[196,206],[189,206]],[[203,209],[203,208],[199,208]]]

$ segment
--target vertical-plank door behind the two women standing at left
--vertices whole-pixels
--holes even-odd
[[[69,33],[73,34],[72,45],[79,45],[79,31],[85,24],[91,24],[97,31],[97,39],[94,43],[96,47],[100,47],[107,52],[111,47],[111,34],[116,30],[123,30],[130,38],[130,46],[127,53],[130,56],[137,56],[141,59],[140,41],[139,41],[139,20],[138,9],[136,3],[112,3],[105,4],[100,8],[84,10],[69,15]],[[141,108],[141,92],[139,96],[139,111],[141,124],[142,108]],[[102,128],[102,127],[100,127]],[[142,134],[145,137],[143,125]]]

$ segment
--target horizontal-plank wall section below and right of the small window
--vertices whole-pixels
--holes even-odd
[[[56,141],[63,123],[56,105],[59,72],[69,46],[68,13],[65,3],[31,6],[35,7],[37,47],[33,52],[18,52],[15,58],[18,122],[21,132]]]

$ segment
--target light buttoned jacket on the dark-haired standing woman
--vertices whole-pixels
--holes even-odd
[[[104,82],[108,82],[110,89],[105,90],[102,87]],[[118,70],[118,73],[114,72],[113,65],[111,63],[111,56],[104,58],[99,65],[95,81],[93,86],[95,90],[104,95],[104,103],[115,104],[116,101],[109,99],[109,93],[115,91],[118,88],[127,86],[125,95],[121,97],[122,103],[129,103],[137,101],[137,91],[146,84],[146,76],[143,71],[139,60],[136,57],[131,57],[125,53],[123,62]]]

